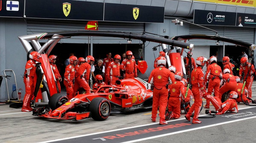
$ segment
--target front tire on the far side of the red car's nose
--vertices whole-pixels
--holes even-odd
[[[66,103],[68,100],[67,95],[62,94],[62,93],[56,93],[54,95],[51,96],[49,102],[48,102],[48,106],[52,109],[55,110],[58,107],[60,107],[61,105],[63,105],[64,103]]]

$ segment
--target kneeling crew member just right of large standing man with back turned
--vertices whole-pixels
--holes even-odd
[[[170,85],[170,97],[168,100],[168,115],[165,116],[165,120],[170,120],[170,118],[178,119],[180,118],[180,98],[185,101],[185,86],[181,82],[183,79],[182,72],[176,72],[174,75],[175,80]],[[188,101],[185,101],[188,102]]]

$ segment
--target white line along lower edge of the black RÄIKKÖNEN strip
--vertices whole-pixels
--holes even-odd
[[[208,127],[218,126],[218,125],[222,125],[222,124],[228,124],[228,123],[233,123],[233,122],[237,122],[237,121],[243,121],[243,120],[252,119],[252,118],[256,118],[256,116],[254,116],[254,117],[248,117],[248,118],[242,118],[242,119],[233,120],[233,121],[227,121],[227,122],[218,123],[218,124],[212,124],[212,125],[203,126],[203,127],[197,127],[197,128],[188,129],[188,130],[182,130],[182,131],[173,132],[173,133],[167,133],[167,134],[158,135],[158,136],[151,136],[151,137],[143,138],[143,139],[136,139],[136,140],[133,140],[133,141],[122,142],[122,143],[131,143],[131,142],[144,141],[144,140],[148,140],[148,139],[155,139],[155,138],[159,138],[159,137],[163,137],[163,136],[169,136],[169,135],[174,135],[174,134],[178,134],[178,133],[189,132],[189,131],[192,131],[192,130],[198,130],[198,129],[203,129],[203,128],[208,128]]]

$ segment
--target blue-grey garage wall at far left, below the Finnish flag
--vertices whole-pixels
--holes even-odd
[[[27,54],[17,36],[26,35],[26,22],[22,18],[3,18],[0,17],[0,74],[4,70],[13,70],[16,74],[17,88],[23,88],[22,98],[25,94],[22,75],[24,66],[27,62]],[[9,74],[9,73],[8,73]],[[12,93],[12,84],[15,84],[14,76],[7,80],[9,94]],[[17,94],[16,97],[17,98]],[[8,99],[5,78],[0,88],[0,102]]]

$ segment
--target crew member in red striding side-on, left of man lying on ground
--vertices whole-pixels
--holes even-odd
[[[192,93],[194,95],[195,102],[189,109],[189,112],[185,115],[185,118],[190,121],[190,116],[192,112],[195,111],[194,117],[192,120],[192,124],[200,124],[201,121],[198,120],[198,115],[200,112],[200,108],[202,106],[202,95],[206,95],[204,90],[204,72],[202,70],[203,66],[207,58],[205,57],[198,57],[196,58],[196,65],[197,67],[191,73],[191,84],[192,84]]]

